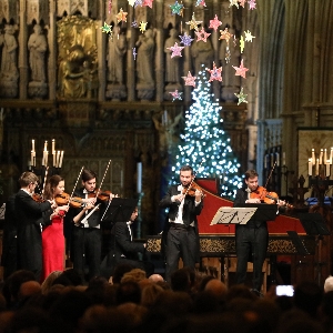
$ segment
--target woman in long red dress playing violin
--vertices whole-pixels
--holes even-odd
[[[52,175],[44,188],[44,199],[53,200],[64,191],[64,180],[58,175]],[[54,271],[64,270],[64,235],[63,216],[68,211],[68,205],[57,206],[50,219],[52,224],[44,226],[42,231],[43,252],[43,275],[42,281]]]

